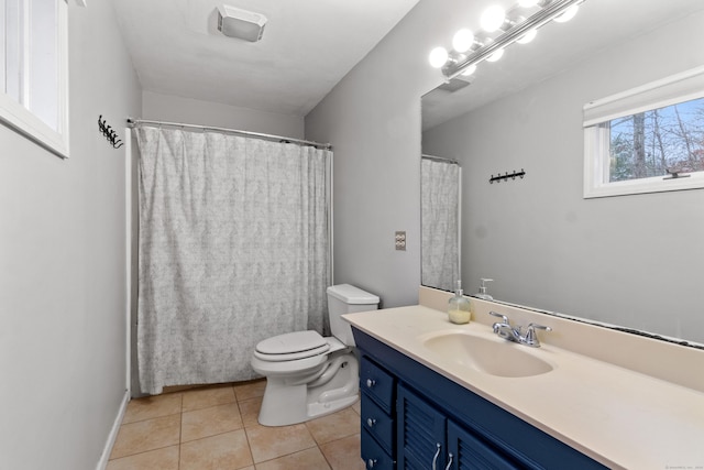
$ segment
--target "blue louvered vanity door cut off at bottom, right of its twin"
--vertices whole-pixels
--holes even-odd
[[[453,470],[514,470],[522,468],[502,457],[474,435],[448,422],[448,452],[452,455]]]

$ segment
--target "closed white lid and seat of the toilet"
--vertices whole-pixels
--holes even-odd
[[[328,349],[330,345],[317,331],[295,331],[260,341],[255,356],[270,361],[292,361],[322,354]]]

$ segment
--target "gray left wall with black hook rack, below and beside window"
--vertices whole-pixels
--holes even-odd
[[[0,125],[0,469],[90,469],[125,393],[124,136],[141,91],[110,2],[69,3],[70,159]]]

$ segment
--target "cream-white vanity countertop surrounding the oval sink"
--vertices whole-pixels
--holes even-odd
[[[348,314],[344,318],[609,468],[704,469],[702,391],[558,348],[550,345],[550,334],[540,334],[544,338],[540,348],[514,345],[496,337],[488,325],[453,325],[446,313],[424,306]],[[470,332],[506,342],[506,347],[525,348],[553,370],[524,378],[473,370],[424,346],[424,339],[442,331]],[[595,347],[608,345],[597,341]],[[690,373],[704,374],[704,351],[682,349],[692,350]]]

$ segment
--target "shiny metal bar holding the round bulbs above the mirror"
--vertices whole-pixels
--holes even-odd
[[[582,2],[584,2],[584,0],[554,0],[550,2],[536,13],[528,17],[526,21],[509,28],[506,32],[495,37],[493,41],[482,45],[474,52],[462,55],[455,61],[449,61],[448,64],[442,67],[442,74],[448,79],[457,77],[468,67],[485,61],[498,50],[515,43],[529,31],[541,28],[558,18],[560,14],[564,13],[568,8]]]

